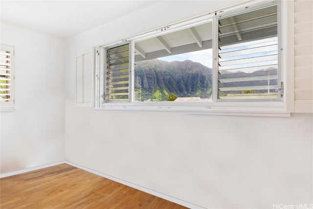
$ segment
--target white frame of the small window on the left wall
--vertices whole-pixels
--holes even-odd
[[[14,83],[15,83],[15,74],[14,74],[14,46],[8,46],[8,45],[0,45],[1,50],[10,51],[10,78],[11,78],[11,86],[10,86],[10,102],[0,102],[0,112],[8,112],[8,111],[14,111],[15,110],[15,96],[14,96]]]

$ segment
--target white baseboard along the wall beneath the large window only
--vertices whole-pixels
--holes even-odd
[[[160,192],[157,192],[157,191],[154,191],[152,189],[149,189],[149,188],[146,188],[146,187],[143,187],[143,186],[139,186],[139,185],[135,185],[133,183],[130,183],[130,182],[127,182],[127,181],[124,181],[122,179],[118,179],[118,178],[115,178],[113,176],[109,176],[107,174],[104,174],[104,173],[100,173],[98,171],[95,171],[95,170],[92,170],[92,169],[89,169],[87,167],[84,167],[84,166],[81,166],[81,165],[78,165],[78,164],[75,164],[75,163],[70,163],[70,162],[66,162],[67,164],[69,165],[72,165],[74,167],[77,167],[77,168],[80,168],[80,169],[83,169],[85,171],[88,171],[90,173],[93,173],[93,174],[96,174],[98,176],[102,176],[104,178],[107,178],[107,179],[110,179],[114,182],[118,182],[120,184],[123,184],[123,185],[126,185],[126,186],[130,186],[132,188],[135,188],[135,189],[138,189],[140,191],[143,191],[143,192],[146,192],[148,194],[152,194],[156,197],[160,197],[162,199],[165,199],[165,200],[168,200],[170,202],[173,202],[173,203],[176,203],[176,204],[179,204],[181,206],[184,206],[184,207],[187,207],[187,208],[190,208],[190,209],[205,209],[205,208],[202,208],[200,206],[197,206],[197,205],[194,205],[192,203],[188,203],[186,201],[183,201],[183,200],[180,200],[180,199],[177,199],[175,197],[171,197],[169,195],[166,195],[166,194],[163,194],[163,193],[160,193]]]

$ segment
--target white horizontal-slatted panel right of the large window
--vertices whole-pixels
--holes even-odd
[[[294,1],[294,112],[313,113],[313,1]]]

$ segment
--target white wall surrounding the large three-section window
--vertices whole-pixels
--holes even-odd
[[[66,160],[205,208],[312,203],[312,114],[201,116],[75,107],[76,51],[212,5],[229,2],[160,2],[66,41]]]

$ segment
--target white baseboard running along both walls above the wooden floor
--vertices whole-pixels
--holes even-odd
[[[139,186],[139,185],[135,185],[133,183],[130,183],[130,182],[127,182],[127,181],[124,181],[124,180],[121,180],[121,179],[118,179],[118,178],[115,178],[113,176],[109,176],[107,174],[104,174],[104,173],[100,173],[98,171],[95,171],[95,170],[92,170],[92,169],[89,169],[87,167],[84,167],[84,166],[81,166],[81,165],[78,165],[78,164],[75,164],[75,163],[71,163],[71,162],[68,162],[68,161],[61,161],[61,162],[57,162],[57,163],[50,163],[50,164],[45,164],[45,165],[41,165],[41,166],[36,166],[36,167],[31,167],[31,168],[27,168],[27,169],[23,169],[23,170],[18,170],[18,171],[14,171],[14,172],[9,172],[9,173],[4,173],[4,174],[0,174],[0,178],[4,178],[4,177],[8,177],[8,176],[13,176],[13,175],[17,175],[17,174],[21,174],[21,173],[26,173],[26,172],[29,172],[29,171],[34,171],[34,170],[38,170],[38,169],[42,169],[42,168],[46,168],[46,167],[50,167],[50,166],[54,166],[54,165],[58,165],[58,164],[62,164],[62,163],[67,163],[69,165],[72,165],[74,167],[77,167],[77,168],[80,168],[82,170],[86,170],[90,173],[93,173],[93,174],[96,174],[98,176],[102,176],[104,178],[107,178],[107,179],[110,179],[114,182],[118,182],[120,184],[123,184],[123,185],[126,185],[126,186],[130,186],[132,188],[135,188],[135,189],[138,189],[140,191],[143,191],[143,192],[146,192],[148,194],[152,194],[156,197],[160,197],[162,199],[165,199],[165,200],[168,200],[170,202],[173,202],[173,203],[176,203],[176,204],[179,204],[181,206],[184,206],[184,207],[187,207],[187,208],[190,208],[190,209],[205,209],[205,208],[202,208],[200,206],[197,206],[197,205],[194,205],[192,203],[188,203],[186,201],[183,201],[183,200],[180,200],[180,199],[177,199],[175,197],[171,197],[169,195],[166,195],[166,194],[163,194],[163,193],[160,193],[160,192],[157,192],[157,191],[154,191],[152,189],[149,189],[149,188],[145,188],[143,186]]]

